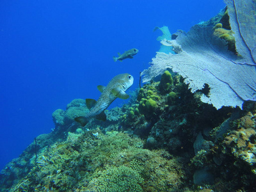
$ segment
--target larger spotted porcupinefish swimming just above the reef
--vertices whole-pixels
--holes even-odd
[[[127,89],[132,86],[133,77],[130,74],[119,74],[109,81],[108,85],[97,86],[98,90],[102,93],[99,99],[86,99],[86,106],[90,112],[86,116],[78,116],[75,118],[82,126],[86,125],[91,118],[97,120],[106,120],[104,110],[118,97],[120,99],[128,99],[129,95],[125,93]]]

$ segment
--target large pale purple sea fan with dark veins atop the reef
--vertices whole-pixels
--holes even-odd
[[[172,46],[177,54],[157,52],[152,66],[142,72],[143,82],[172,68],[184,77],[192,93],[208,84],[209,94],[200,99],[216,109],[242,108],[244,100],[256,100],[256,4],[253,0],[226,0],[225,3],[237,55],[228,51],[227,42],[212,35],[212,27],[196,25],[188,33],[175,33],[178,35],[175,40],[161,42]]]

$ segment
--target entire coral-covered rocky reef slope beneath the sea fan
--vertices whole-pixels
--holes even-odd
[[[83,99],[52,113],[42,134],[0,175],[1,191],[255,191],[256,104],[219,110],[166,70],[106,111],[74,122]]]

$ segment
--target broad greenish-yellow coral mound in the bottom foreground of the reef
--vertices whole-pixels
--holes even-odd
[[[166,191],[182,186],[179,159],[143,149],[139,138],[99,130],[95,136],[95,131],[69,133],[67,140],[42,150],[11,191]]]

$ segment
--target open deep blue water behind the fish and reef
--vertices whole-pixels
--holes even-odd
[[[71,100],[98,99],[97,85],[125,72],[134,76],[130,90],[138,88],[160,47],[156,26],[189,31],[224,7],[222,0],[1,1],[0,169],[51,132],[52,112]],[[131,48],[139,49],[132,60],[113,61]]]

